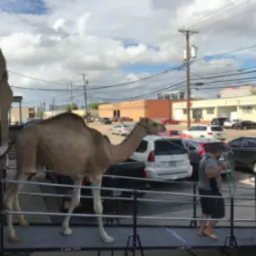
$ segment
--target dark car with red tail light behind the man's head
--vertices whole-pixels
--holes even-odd
[[[228,146],[225,142],[213,139],[213,138],[197,138],[197,139],[183,139],[184,145],[187,147],[190,153],[190,164],[193,166],[193,174],[192,179],[199,179],[199,162],[202,159],[203,155],[208,152],[208,147],[213,144],[221,144],[223,148],[223,153],[219,160],[228,159],[231,164],[232,170],[234,170],[234,156],[233,151],[230,146]],[[225,171],[221,172],[225,174]]]

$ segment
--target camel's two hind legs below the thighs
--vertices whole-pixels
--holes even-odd
[[[27,175],[25,173],[18,174],[15,177],[15,181],[25,181]],[[19,204],[18,193],[22,190],[22,183],[11,183],[4,194],[4,205],[9,211],[13,211],[13,207],[16,211],[21,211],[21,207]],[[24,216],[18,214],[18,220],[21,225],[28,225],[25,221]],[[11,243],[19,243],[22,240],[16,236],[14,228],[13,228],[13,214],[7,213],[7,227],[8,227],[8,238]]]

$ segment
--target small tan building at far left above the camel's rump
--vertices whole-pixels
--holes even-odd
[[[9,122],[11,124],[24,121],[26,119],[33,119],[36,116],[35,108],[29,107],[12,107],[9,113]]]

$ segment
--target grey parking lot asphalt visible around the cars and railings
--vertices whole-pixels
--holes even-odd
[[[95,125],[94,125],[95,126]],[[96,125],[98,126],[98,125]],[[101,127],[99,125],[99,127]],[[175,126],[176,128],[177,126]],[[179,126],[181,127],[181,126]],[[183,127],[184,128],[184,127]],[[123,138],[118,137],[118,136],[112,136],[110,135],[110,126],[108,128],[99,128],[102,133],[107,134],[110,137],[110,140],[113,144],[119,143]],[[230,131],[228,131],[230,134]],[[248,131],[246,131],[248,134]],[[252,133],[252,131],[250,131]],[[253,131],[254,132],[254,131]],[[238,136],[241,136],[244,131],[232,131],[231,136],[229,136],[228,139],[231,139],[234,134],[240,134]],[[256,132],[255,132],[256,134]],[[237,135],[235,137],[238,137]],[[14,173],[13,171],[9,171],[8,176],[12,177]],[[249,172],[244,172],[244,171],[236,171],[234,172],[234,184],[236,185],[237,189],[235,190],[235,197],[253,197],[254,196],[254,183],[249,180],[249,176],[252,175],[252,173]],[[11,178],[10,177],[10,178]],[[34,178],[33,181],[45,181],[44,180],[44,175],[39,174],[36,178]],[[224,179],[224,184],[226,184],[226,181]],[[239,187],[239,188],[238,188]],[[152,202],[140,202],[139,207],[138,207],[138,214],[140,216],[182,216],[182,217],[192,217],[192,199],[191,198],[185,198],[184,196],[173,196],[167,194],[168,192],[182,192],[182,193],[192,193],[192,185],[191,184],[162,184],[162,185],[156,185],[154,187],[154,190],[161,190],[165,191],[166,194],[162,195],[153,195],[153,194],[147,194],[145,199],[166,199],[168,200],[168,203],[157,203],[156,205]],[[36,193],[56,193],[56,190],[49,190],[46,189],[45,187],[42,188],[37,185],[25,185],[22,192],[36,192]],[[224,191],[224,194],[227,194],[228,190]],[[21,201],[21,207],[22,210],[26,211],[40,211],[40,212],[57,212],[58,207],[57,207],[57,199],[54,198],[46,198],[43,199],[38,196],[28,196],[28,195],[21,195],[20,196],[20,201]],[[244,199],[238,199],[235,200],[235,204],[241,205],[237,206],[234,209],[234,216],[235,218],[245,218],[245,219],[252,219],[255,218],[255,202],[251,201],[245,201]],[[252,206],[252,207],[249,207]],[[130,204],[126,204],[125,207],[123,207],[124,214],[129,215],[131,214],[132,207]],[[197,215],[199,216],[200,211],[199,207],[197,209]],[[229,208],[226,207],[226,216],[229,215]],[[61,223],[62,217],[49,217],[49,216],[27,216],[27,220],[29,222],[44,222],[44,223],[49,223],[49,222],[56,222],[56,223]],[[95,219],[91,219],[90,222],[94,222]],[[72,217],[72,223],[84,223],[84,218],[81,217]],[[121,223],[125,223],[125,220],[121,220]],[[146,223],[141,221],[141,224],[148,224],[148,225],[153,225],[153,224],[158,224],[158,225],[189,225],[190,221],[166,221],[166,220],[146,220]],[[255,223],[250,223],[251,225],[255,225]],[[222,222],[221,225],[229,225],[227,222]],[[247,222],[240,222],[239,225],[248,225]],[[24,227],[25,228],[25,227]],[[61,231],[61,226],[59,226],[59,230]],[[196,232],[196,231],[195,231]],[[86,231],[84,230],[84,239],[86,239]],[[196,235],[196,234],[195,234]],[[210,255],[220,255],[219,252],[216,250],[198,250],[198,251],[193,251],[196,252],[197,255],[204,255],[207,253],[208,256]],[[47,252],[49,256],[58,256],[58,255],[63,255],[64,252]],[[65,252],[66,255],[70,256],[93,256],[96,255],[97,252]],[[188,255],[188,252],[186,251],[170,251],[170,250],[165,250],[165,251],[148,251],[145,253],[146,256],[151,256],[155,255],[156,253],[161,253],[162,256],[167,256],[170,255],[170,253],[175,253],[177,256],[184,256]],[[249,254],[250,253],[250,254]],[[32,255],[45,255],[46,252],[34,252]],[[102,252],[102,255],[110,255],[110,252]],[[116,256],[123,255],[123,252],[115,252]],[[137,254],[139,255],[139,254]],[[236,255],[236,252],[231,255]],[[244,251],[243,255],[252,255],[252,251]]]

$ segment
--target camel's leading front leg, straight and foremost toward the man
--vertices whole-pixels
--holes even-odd
[[[102,187],[102,181],[94,182],[93,187]],[[93,189],[93,209],[95,214],[102,215],[103,207],[102,207],[102,199],[101,199],[101,190],[100,189]],[[97,216],[98,226],[100,235],[102,237],[102,241],[104,243],[113,243],[115,239],[111,237],[104,229],[103,222],[102,222],[102,216]]]

